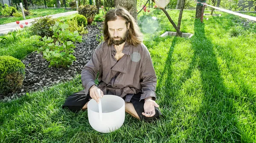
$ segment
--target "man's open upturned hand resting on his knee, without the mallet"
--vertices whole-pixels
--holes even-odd
[[[159,105],[152,99],[148,99],[144,103],[144,112],[142,115],[146,117],[152,117],[156,114],[154,107],[159,107]]]

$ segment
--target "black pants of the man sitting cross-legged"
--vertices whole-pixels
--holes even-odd
[[[84,107],[84,105],[91,99],[89,94],[90,93],[85,95],[84,90],[82,90],[78,93],[74,93],[73,95],[70,95],[69,97],[67,97],[62,108],[67,107],[73,112],[80,111],[82,107]],[[156,114],[153,117],[145,117],[144,115],[142,115],[142,112],[144,112],[144,108],[143,108],[144,100],[140,101],[140,95],[141,93],[137,93],[133,95],[130,101],[133,104],[137,114],[139,115],[140,120],[153,121],[154,119],[158,119],[160,115],[162,115],[162,113],[157,107],[155,107]],[[123,99],[125,99],[125,97]]]

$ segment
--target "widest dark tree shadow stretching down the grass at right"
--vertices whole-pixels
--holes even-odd
[[[202,142],[241,141],[241,131],[236,127],[236,110],[231,100],[233,94],[226,90],[213,45],[204,34],[204,23],[195,20],[194,30],[193,59],[198,59],[198,62],[193,60],[191,64],[200,71],[204,93],[191,139]]]

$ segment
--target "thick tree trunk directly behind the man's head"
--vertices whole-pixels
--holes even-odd
[[[122,6],[125,8],[131,16],[134,17],[134,20],[137,21],[137,8],[136,8],[136,0],[114,0],[115,7]]]

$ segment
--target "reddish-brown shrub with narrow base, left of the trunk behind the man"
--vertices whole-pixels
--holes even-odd
[[[78,13],[86,17],[87,23],[91,24],[97,13],[97,8],[96,6],[92,5],[79,6]]]

